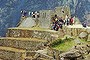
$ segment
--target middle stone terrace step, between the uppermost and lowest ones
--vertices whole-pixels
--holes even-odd
[[[0,46],[14,47],[30,51],[41,49],[41,47],[44,48],[44,44],[47,44],[47,41],[36,38],[0,38]]]

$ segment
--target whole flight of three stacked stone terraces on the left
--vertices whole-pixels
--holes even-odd
[[[57,39],[54,37],[57,33],[48,29],[9,28],[6,37],[0,38],[0,59],[36,60],[36,51],[43,50],[44,44]],[[48,55],[39,55],[37,60],[53,60]]]

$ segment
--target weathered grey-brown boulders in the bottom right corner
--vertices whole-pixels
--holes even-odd
[[[69,52],[60,54],[60,57],[65,60],[82,60],[85,55],[90,53],[89,45],[78,45],[72,48]]]

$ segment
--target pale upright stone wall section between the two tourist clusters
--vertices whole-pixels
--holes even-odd
[[[41,10],[39,23],[41,28],[51,28],[51,17],[53,14],[53,10]]]

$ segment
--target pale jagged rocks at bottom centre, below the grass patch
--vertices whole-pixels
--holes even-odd
[[[59,51],[52,49],[50,47],[47,47],[43,50],[33,51],[33,52],[27,52],[26,53],[26,60],[34,59],[34,60],[59,60]]]

